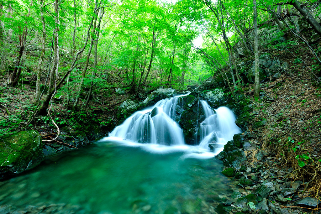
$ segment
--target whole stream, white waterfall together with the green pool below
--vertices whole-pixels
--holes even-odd
[[[219,213],[213,206],[232,190],[213,157],[240,129],[230,109],[199,100],[196,143],[187,145],[178,124],[184,96],[160,100],[108,137],[0,182],[0,205],[58,214]]]

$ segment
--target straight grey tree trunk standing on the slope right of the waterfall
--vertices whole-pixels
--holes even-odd
[[[260,96],[260,73],[259,73],[259,48],[258,48],[258,36],[257,36],[257,10],[256,0],[253,0],[253,28],[254,28],[254,58],[255,58],[255,89],[254,98],[258,99]]]

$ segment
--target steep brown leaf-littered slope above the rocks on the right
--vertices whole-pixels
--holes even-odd
[[[315,62],[308,57],[307,48],[298,49],[305,63],[313,67]],[[250,125],[248,131],[262,136],[256,139],[259,149],[274,151],[282,167],[293,167],[297,179],[310,182],[311,191],[315,191],[321,186],[321,89],[311,84],[312,74],[306,64],[286,53],[279,52],[278,56],[288,61],[290,68],[280,78],[261,86],[265,98],[252,103],[250,115],[255,117],[252,124],[263,120],[266,124],[254,130]],[[266,98],[275,101],[268,103]]]

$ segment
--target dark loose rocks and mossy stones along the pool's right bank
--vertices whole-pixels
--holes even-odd
[[[251,134],[235,135],[216,156],[223,161],[222,173],[240,190],[219,196],[222,213],[318,213],[321,200],[306,191],[308,183],[296,179],[275,153],[259,149]]]

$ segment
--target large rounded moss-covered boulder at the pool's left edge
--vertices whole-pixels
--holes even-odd
[[[2,178],[31,169],[44,158],[41,137],[33,130],[20,131],[2,138],[0,147]]]

